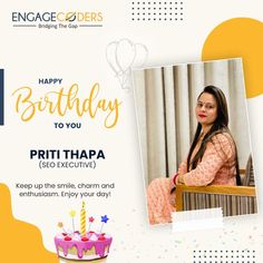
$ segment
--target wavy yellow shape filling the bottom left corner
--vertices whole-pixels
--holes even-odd
[[[1,262],[58,263],[57,254],[47,251],[38,227],[12,216],[9,188],[0,184]]]

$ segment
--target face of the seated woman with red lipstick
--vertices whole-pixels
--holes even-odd
[[[213,95],[204,92],[199,96],[195,107],[195,115],[202,126],[210,126],[215,121],[217,105]]]

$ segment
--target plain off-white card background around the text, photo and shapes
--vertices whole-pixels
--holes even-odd
[[[257,251],[263,243],[259,216],[225,220],[223,230],[172,233],[172,226],[149,227],[142,164],[139,158],[133,91],[121,89],[106,60],[106,46],[124,38],[144,43],[148,49],[147,67],[192,62],[201,59],[207,35],[222,21],[235,17],[262,19],[262,1],[184,0],[184,20],[178,22],[132,22],[130,1],[1,1],[0,67],[6,77],[6,126],[0,128],[1,182],[11,189],[12,210],[17,218],[37,225],[45,246],[55,252],[53,235],[57,222],[70,226],[68,212],[80,208],[80,199],[20,198],[16,182],[86,182],[116,185],[111,198],[86,199],[88,216],[110,218],[105,231],[114,242],[108,262],[192,262],[193,250],[249,249]],[[104,13],[103,28],[48,30],[13,28],[12,11],[99,10]],[[82,128],[53,128],[53,116],[37,116],[21,123],[14,113],[11,94],[22,85],[37,86],[40,77],[61,77],[64,85],[78,82],[85,95],[91,85],[100,82],[101,96],[119,98],[123,104],[119,121],[106,129],[103,119],[85,116]],[[252,148],[256,176],[263,172],[261,136],[263,97],[250,99]],[[67,120],[76,119],[75,115]],[[39,171],[29,159],[31,148],[103,148],[106,160],[98,162],[95,171]],[[262,204],[262,182],[256,177],[259,203]],[[78,218],[76,218],[78,224]],[[214,242],[216,241],[216,242]]]

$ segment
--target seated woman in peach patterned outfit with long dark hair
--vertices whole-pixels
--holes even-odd
[[[228,113],[223,91],[207,86],[197,98],[195,107],[197,128],[187,158],[172,178],[154,179],[147,188],[150,224],[171,222],[176,211],[176,184],[241,185],[237,152],[227,128]]]

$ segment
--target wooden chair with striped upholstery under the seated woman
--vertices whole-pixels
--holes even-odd
[[[222,207],[224,216],[255,214],[257,202],[252,156],[249,156],[243,186],[176,186],[176,211]],[[252,186],[252,187],[247,187]]]

